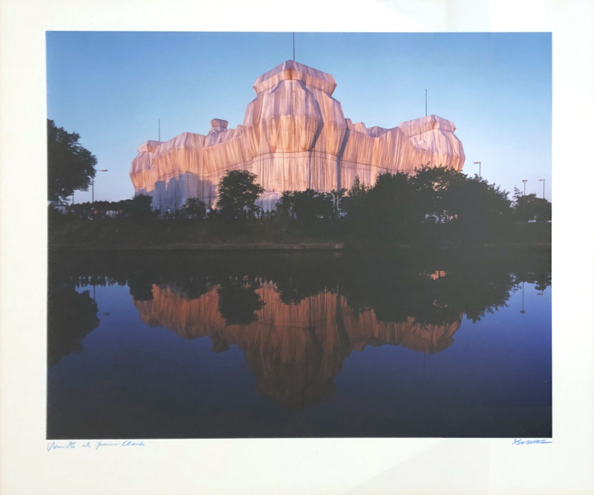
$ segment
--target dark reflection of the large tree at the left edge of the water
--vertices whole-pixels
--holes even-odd
[[[71,352],[83,350],[81,340],[97,325],[97,304],[89,291],[79,293],[69,285],[49,285],[48,364],[53,366]]]

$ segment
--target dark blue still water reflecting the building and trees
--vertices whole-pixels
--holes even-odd
[[[550,437],[549,263],[52,255],[48,439]]]

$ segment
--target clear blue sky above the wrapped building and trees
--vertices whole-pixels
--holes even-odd
[[[255,79],[293,58],[292,33],[48,31],[48,118],[97,157],[95,199],[134,194],[137,148],[242,124]],[[353,122],[454,122],[466,162],[551,200],[551,33],[295,33],[295,60],[332,74]],[[512,192],[513,194],[513,192]],[[511,194],[510,194],[511,197]],[[75,191],[74,201],[90,201]]]

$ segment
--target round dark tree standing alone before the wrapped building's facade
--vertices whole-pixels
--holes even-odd
[[[264,188],[255,182],[258,176],[247,170],[227,171],[219,182],[217,207],[229,218],[251,216],[258,207],[255,202]]]

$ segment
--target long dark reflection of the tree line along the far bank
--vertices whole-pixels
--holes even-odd
[[[63,257],[62,269],[74,280],[128,283],[137,300],[150,300],[153,284],[173,284],[190,298],[221,286],[222,311],[229,321],[253,321],[261,301],[253,290],[271,281],[285,304],[299,304],[320,292],[339,292],[351,308],[371,308],[379,321],[408,317],[431,324],[451,323],[459,313],[471,320],[505,305],[519,282],[542,291],[551,284],[546,253],[388,254],[365,251],[333,256],[303,254],[122,253],[118,256]],[[432,278],[432,273],[443,276]],[[245,278],[245,280],[244,280]],[[239,311],[239,313],[238,313]]]

